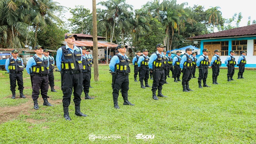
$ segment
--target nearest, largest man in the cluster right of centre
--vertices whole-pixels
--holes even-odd
[[[149,70],[153,73],[153,85],[152,85],[152,98],[158,100],[158,97],[166,97],[162,94],[162,89],[164,85],[164,60],[163,60],[163,51],[164,45],[156,45],[156,53],[153,53],[149,58]],[[158,95],[156,97],[156,90],[158,90]]]

